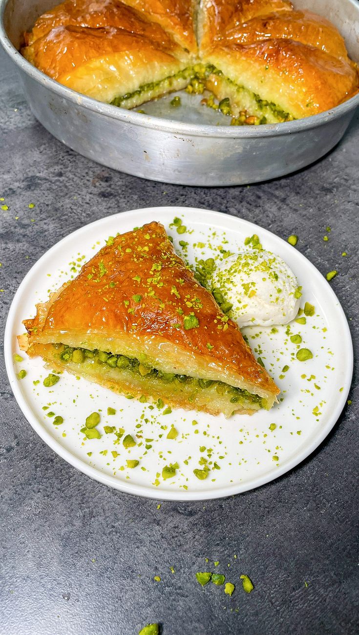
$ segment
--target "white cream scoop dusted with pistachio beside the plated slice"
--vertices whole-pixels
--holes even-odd
[[[241,251],[217,264],[210,279],[233,306],[238,326],[287,324],[299,309],[297,279],[279,256],[266,250]]]

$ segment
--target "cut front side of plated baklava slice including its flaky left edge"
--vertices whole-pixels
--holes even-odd
[[[67,285],[51,294],[48,302],[37,305],[36,318],[24,321],[28,333],[18,336],[18,345],[29,358],[40,356],[48,368],[60,372],[68,371],[114,392],[125,394],[128,398],[140,399],[145,396],[152,401],[163,399],[174,407],[205,411],[212,415],[221,412],[226,417],[231,417],[234,413],[252,414],[262,408],[270,410],[274,403],[278,403],[276,396],[280,390],[273,380],[270,391],[255,387],[256,392],[251,392],[254,391],[254,384],[248,384],[244,379],[242,382],[236,380],[229,383],[225,375],[221,381],[218,370],[201,370],[198,377],[168,372],[168,368],[161,371],[152,367],[146,354],[135,357],[134,353],[128,356],[123,352],[109,351],[111,347],[103,335],[97,335],[96,342],[102,340],[104,350],[76,346],[76,335],[71,337],[73,346],[58,341],[39,341],[44,339],[41,338],[41,326],[46,321],[51,304],[64,286]],[[37,332],[40,333],[39,336]],[[57,337],[59,339],[60,336]],[[64,339],[68,338],[64,336]],[[95,336],[93,339],[95,340]],[[126,342],[121,347],[113,345],[112,349],[128,352]]]

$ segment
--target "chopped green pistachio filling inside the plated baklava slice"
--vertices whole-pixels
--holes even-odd
[[[189,377],[188,375],[177,375],[175,373],[165,373],[156,368],[146,366],[139,359],[128,358],[125,355],[112,355],[111,352],[90,351],[89,349],[74,349],[67,344],[53,344],[55,347],[55,359],[58,358],[65,363],[76,363],[85,365],[86,369],[96,364],[102,366],[104,371],[119,370],[128,378],[143,380],[148,385],[149,391],[158,390],[162,392],[168,385],[173,393],[182,392],[189,401],[195,401],[196,396],[202,391],[207,391],[208,399],[215,399],[220,396],[225,399],[229,406],[236,410],[236,404],[243,408],[251,408],[259,410],[259,408],[267,408],[268,403],[265,398],[252,394],[244,389],[236,388],[224,382],[212,379],[203,379]],[[82,354],[79,355],[78,351]],[[111,374],[114,377],[114,373]]]

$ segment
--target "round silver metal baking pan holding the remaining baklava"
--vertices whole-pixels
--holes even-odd
[[[182,185],[243,185],[299,170],[329,152],[344,135],[359,95],[306,119],[261,126],[194,123],[168,119],[163,100],[140,114],[102,104],[65,88],[18,52],[21,36],[58,0],[0,0],[0,42],[17,66],[34,116],[65,145],[115,170]],[[304,8],[308,0],[294,0]],[[311,0],[311,11],[331,20],[359,61],[359,3]],[[156,110],[157,109],[157,110]],[[186,116],[186,108],[183,109]],[[162,115],[162,116],[158,116]],[[197,123],[200,121],[201,123]]]

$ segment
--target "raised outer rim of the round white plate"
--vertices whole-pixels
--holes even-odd
[[[301,253],[301,251],[295,250],[295,253],[297,254],[297,257],[299,257],[299,260],[304,259],[306,261],[306,265],[307,266],[309,265],[309,268],[312,269],[313,274],[315,273],[316,276],[319,275],[320,277],[323,278],[323,282],[327,283],[327,292],[329,293],[329,295],[331,295],[332,300],[336,302],[336,305],[337,305],[336,309],[337,311],[339,311],[339,315],[340,315],[342,324],[344,326],[344,331],[342,331],[342,336],[343,336],[343,350],[346,353],[346,367],[344,371],[345,381],[344,381],[342,391],[339,393],[339,399],[337,401],[337,404],[329,417],[329,422],[327,422],[327,424],[324,425],[323,429],[318,432],[318,434],[315,436],[315,439],[313,439],[313,441],[309,443],[309,445],[304,446],[304,448],[298,453],[296,453],[294,457],[289,458],[287,461],[284,461],[283,464],[280,465],[280,467],[276,468],[276,472],[269,471],[262,476],[258,476],[258,477],[250,479],[250,481],[247,481],[244,485],[240,485],[240,483],[237,483],[236,485],[220,486],[219,488],[213,488],[212,490],[205,490],[205,491],[201,491],[201,490],[193,490],[193,491],[177,490],[176,491],[176,490],[168,490],[168,489],[154,490],[154,488],[150,486],[136,485],[135,483],[126,483],[125,481],[116,479],[114,476],[105,474],[105,472],[101,472],[99,469],[95,467],[91,467],[91,465],[86,464],[86,462],[81,460],[81,458],[76,457],[76,455],[74,455],[70,450],[67,450],[67,448],[62,446],[61,443],[57,441],[55,437],[51,436],[50,432],[48,432],[43,427],[39,419],[31,410],[29,404],[27,404],[25,396],[20,389],[20,385],[18,384],[15,368],[13,366],[13,337],[12,337],[13,336],[12,328],[13,328],[13,321],[14,321],[13,318],[15,316],[15,313],[17,312],[18,305],[20,304],[22,293],[27,288],[27,281],[30,279],[30,277],[34,273],[34,269],[41,267],[43,260],[45,260],[45,258],[48,258],[48,256],[51,255],[53,251],[55,250],[57,251],[58,247],[61,244],[63,244],[65,241],[67,241],[69,237],[80,236],[81,233],[88,231],[90,227],[94,228],[96,225],[100,225],[100,224],[103,224],[104,222],[107,222],[107,220],[113,220],[115,222],[115,219],[133,217],[133,215],[140,216],[143,213],[149,213],[149,212],[163,213],[168,210],[173,210],[173,213],[175,214],[188,213],[188,212],[205,213],[205,215],[208,215],[208,218],[212,217],[213,219],[218,219],[218,220],[221,219],[222,221],[225,220],[226,222],[229,222],[229,224],[231,223],[236,224],[236,222],[239,221],[241,224],[247,225],[248,229],[252,228],[252,230],[255,230],[255,231],[257,231],[258,228],[261,229],[261,232],[263,232],[265,235],[270,236],[272,241],[274,239],[274,243],[276,241],[279,244],[284,243],[287,247],[287,242],[283,238],[281,238],[280,236],[277,236],[276,234],[269,231],[265,227],[261,227],[261,225],[252,223],[246,220],[245,218],[233,216],[229,213],[208,210],[206,208],[194,208],[194,207],[173,206],[173,205],[137,208],[135,210],[122,211],[116,214],[105,216],[103,218],[98,218],[98,220],[95,220],[86,225],[82,225],[81,227],[76,229],[74,232],[71,232],[70,234],[67,234],[67,236],[64,236],[64,238],[60,239],[60,241],[53,244],[53,246],[51,246],[50,249],[45,251],[43,255],[32,265],[32,267],[29,269],[24,279],[22,279],[22,282],[18,286],[17,291],[15,292],[15,295],[13,297],[13,300],[11,301],[8,317],[6,319],[5,331],[4,331],[4,361],[5,361],[6,373],[8,375],[10,387],[11,387],[11,390],[13,391],[17,404],[20,410],[22,411],[22,414],[31,425],[32,429],[36,432],[36,434],[38,434],[38,436],[44,441],[44,443],[46,443],[46,445],[48,445],[51,448],[51,450],[53,450],[59,457],[63,458],[67,463],[72,465],[72,467],[76,468],[79,472],[83,472],[83,474],[86,474],[86,476],[90,476],[90,478],[94,479],[95,481],[98,481],[102,483],[103,485],[112,487],[118,491],[122,491],[123,493],[137,495],[144,498],[152,498],[154,500],[168,500],[173,502],[190,502],[194,500],[200,501],[200,500],[213,500],[215,498],[227,498],[229,496],[244,493],[245,491],[250,491],[257,487],[261,487],[262,485],[266,485],[267,483],[270,483],[271,481],[275,481],[276,479],[280,478],[287,472],[290,472],[292,469],[300,465],[306,458],[308,458],[316,450],[316,448],[318,448],[323,443],[323,440],[329,435],[330,431],[332,431],[335,424],[339,420],[339,417],[341,416],[342,410],[344,410],[346,400],[348,398],[348,394],[349,394],[349,390],[350,390],[351,382],[353,378],[353,342],[352,342],[351,333],[349,330],[348,320],[346,319],[346,315],[344,313],[344,310],[342,309],[342,305],[339,302],[337,295],[335,295],[334,291],[332,290],[332,287],[329,285],[329,283],[327,283],[327,281],[325,280],[325,277],[322,276],[322,274],[315,267],[315,265],[313,265],[311,261],[308,260],[308,258],[306,258],[306,256],[304,256],[304,254]],[[230,228],[227,227],[227,229],[230,229]]]

